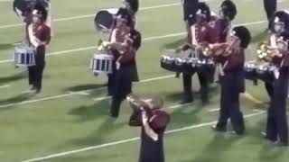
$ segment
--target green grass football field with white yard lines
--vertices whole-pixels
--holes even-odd
[[[220,0],[210,0],[217,11]],[[235,24],[246,24],[253,35],[247,60],[266,39],[266,22],[261,0],[235,0]],[[211,89],[210,105],[200,101],[180,105],[182,80],[164,71],[159,60],[164,49],[184,40],[182,7],[179,0],[141,0],[137,28],[144,36],[137,54],[143,82],[134,86],[139,95],[160,94],[165,98],[172,122],[164,139],[167,162],[285,162],[287,148],[275,148],[262,139],[268,101],[260,82],[247,82],[242,110],[247,115],[244,137],[210,130],[218,119],[219,88]],[[12,2],[0,1],[0,162],[136,162],[140,130],[127,125],[131,112],[122,105],[117,120],[108,117],[106,78],[89,71],[89,61],[98,36],[93,16],[101,8],[118,6],[120,0],[54,0],[54,37],[49,47],[42,94],[30,95],[24,69],[14,68],[13,43],[23,39],[23,26],[12,12]],[[165,5],[164,5],[165,4]],[[289,8],[288,0],[279,4]],[[91,14],[91,15],[90,15]],[[90,16],[89,16],[90,15]],[[73,18],[70,18],[73,17]],[[199,84],[194,81],[195,91]],[[74,93],[71,93],[74,92]],[[259,110],[259,111],[256,111]]]

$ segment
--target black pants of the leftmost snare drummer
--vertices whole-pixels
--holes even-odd
[[[36,65],[28,67],[29,85],[33,85],[37,90],[42,89],[42,74],[45,67],[45,46],[39,46],[35,55]]]

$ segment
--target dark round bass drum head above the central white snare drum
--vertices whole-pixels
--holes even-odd
[[[114,16],[106,10],[99,11],[94,23],[98,31],[109,31],[113,27]]]

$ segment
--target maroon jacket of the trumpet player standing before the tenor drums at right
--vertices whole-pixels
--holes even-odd
[[[216,61],[222,65],[225,74],[241,71],[245,64],[245,49],[233,50],[228,57],[219,56]]]

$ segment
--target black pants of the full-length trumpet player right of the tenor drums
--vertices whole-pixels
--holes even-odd
[[[239,73],[228,73],[220,77],[220,111],[217,128],[227,129],[228,119],[233,130],[242,134],[245,130],[243,113],[240,111],[239,93],[242,90],[242,78]]]

